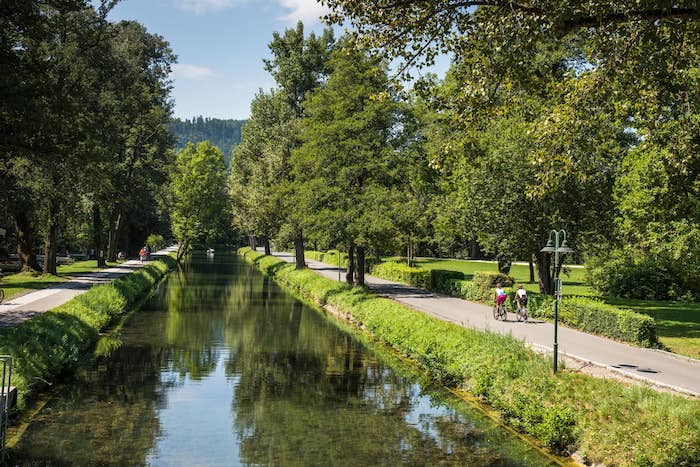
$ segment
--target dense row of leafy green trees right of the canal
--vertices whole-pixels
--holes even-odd
[[[565,227],[602,288],[615,257],[664,271],[649,290],[700,293],[696,6],[327,3],[358,34],[274,36],[278,87],[256,96],[232,161],[242,230],[294,241],[298,266],[304,239],[343,247],[358,284],[369,251],[478,244],[503,271],[534,259],[551,292],[539,250]],[[404,92],[379,45],[454,61]]]

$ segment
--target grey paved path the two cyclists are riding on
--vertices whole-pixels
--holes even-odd
[[[287,262],[294,262],[289,253],[273,253]],[[307,260],[310,269],[338,280],[338,268]],[[344,280],[343,271],[343,280]],[[511,334],[543,351],[552,352],[554,325],[531,319],[516,321],[508,313],[508,321],[496,321],[492,307],[455,297],[435,294],[408,285],[365,276],[367,286],[415,310],[460,326]],[[559,326],[559,353],[578,361],[590,363],[628,378],[643,380],[673,390],[700,396],[700,361],[654,349],[623,344],[603,337]],[[595,372],[593,372],[595,373]]]

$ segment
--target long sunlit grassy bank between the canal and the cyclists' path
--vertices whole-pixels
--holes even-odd
[[[240,253],[299,294],[346,313],[435,380],[469,391],[556,452],[577,451],[608,465],[700,463],[697,400],[576,373],[554,375],[548,359],[511,337],[431,318],[249,249]]]

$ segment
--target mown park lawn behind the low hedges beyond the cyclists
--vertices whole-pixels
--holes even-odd
[[[476,272],[497,272],[498,270],[498,266],[493,261],[439,258],[419,258],[415,266],[424,269],[459,271],[464,273],[465,279],[470,279]],[[539,286],[536,283],[528,283],[530,270],[527,265],[514,264],[510,275],[521,282],[529,292],[539,292]],[[700,303],[601,297],[598,292],[585,285],[585,269],[582,267],[568,268],[562,275],[562,281],[566,296],[597,298],[610,305],[651,316],[656,321],[656,334],[664,347],[674,353],[700,359]]]

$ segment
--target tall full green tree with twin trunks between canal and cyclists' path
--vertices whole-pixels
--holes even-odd
[[[329,65],[327,83],[305,102],[303,144],[292,155],[294,202],[308,230],[347,245],[347,279],[364,285],[367,249],[394,229],[403,162],[392,146],[398,104],[386,65],[354,43],[334,51]]]

